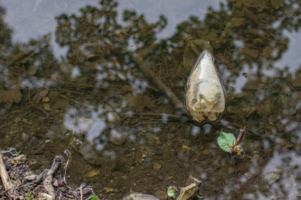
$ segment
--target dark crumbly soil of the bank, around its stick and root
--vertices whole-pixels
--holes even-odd
[[[14,185],[15,199],[30,200],[38,199],[38,195],[41,193],[49,193],[47,185],[45,186],[45,172],[49,169],[45,169],[44,173],[36,175],[30,171],[29,166],[25,161],[15,161],[16,158],[26,156],[24,154],[14,153],[14,148],[7,151],[1,151],[3,156],[3,163],[5,165],[8,176]],[[60,163],[60,160],[59,160]],[[54,161],[54,165],[58,165]],[[53,169],[54,165],[51,169]],[[51,170],[50,169],[50,170]],[[92,188],[85,184],[81,184],[78,188],[72,188],[67,184],[65,179],[61,176],[61,172],[56,170],[52,174],[51,185],[56,195],[55,200],[83,200],[91,199],[94,197],[97,200]],[[0,199],[11,200],[7,191],[4,189],[2,181],[0,181]]]

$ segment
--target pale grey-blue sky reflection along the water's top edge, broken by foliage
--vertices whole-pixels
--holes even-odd
[[[57,21],[55,18],[62,14],[79,15],[79,9],[86,5],[100,8],[99,0],[66,1],[66,0],[30,0],[27,3],[16,1],[1,1],[1,6],[6,9],[5,23],[13,29],[13,42],[28,42],[32,38],[51,33],[52,46],[57,58],[66,54],[67,49],[61,48],[55,42],[55,29]],[[136,11],[138,15],[144,14],[148,22],[156,22],[159,15],[164,15],[167,27],[157,34],[158,38],[169,37],[176,32],[176,26],[189,16],[197,16],[204,19],[209,6],[219,9],[219,0],[195,1],[195,0],[164,0],[164,1],[118,1],[117,21],[122,24],[122,11],[125,9]],[[26,26],[24,26],[26,25]]]

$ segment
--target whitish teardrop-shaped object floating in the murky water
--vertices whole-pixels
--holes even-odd
[[[220,119],[226,94],[209,51],[197,58],[185,89],[185,112],[194,122],[203,125]]]

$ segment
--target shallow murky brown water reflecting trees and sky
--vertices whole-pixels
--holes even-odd
[[[246,126],[246,159],[234,160],[242,198],[300,199],[297,0],[3,1],[0,9],[0,147],[27,154],[36,173],[69,149],[68,183],[114,200],[180,188],[174,156],[185,179],[204,182],[203,199],[239,199],[216,137]],[[189,37],[210,41],[227,94],[222,120],[202,127],[175,105]]]

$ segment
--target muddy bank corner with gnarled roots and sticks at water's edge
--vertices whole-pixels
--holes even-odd
[[[14,152],[14,148],[1,151],[0,200],[100,200],[90,186],[81,184],[72,188],[60,173],[62,156],[56,156],[50,169],[34,174],[26,165],[26,155]],[[104,200],[104,199],[103,199]]]

